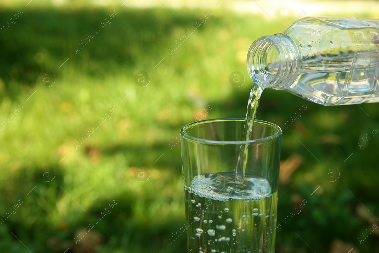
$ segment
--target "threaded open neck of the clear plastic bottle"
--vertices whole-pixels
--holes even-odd
[[[300,66],[299,47],[284,33],[260,37],[247,53],[247,71],[263,88],[287,89],[298,78]]]

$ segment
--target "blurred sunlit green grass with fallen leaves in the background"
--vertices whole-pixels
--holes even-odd
[[[0,24],[17,10],[1,10]],[[207,10],[117,9],[75,55],[77,43],[112,11],[25,9],[0,35],[0,119],[22,105],[0,129],[0,214],[23,201],[0,225],[3,252],[184,252],[184,234],[169,240],[185,223],[180,145],[170,147],[172,138],[207,105],[206,118],[243,118],[251,88],[247,49],[292,19],[213,11],[170,54],[168,47]],[[134,83],[138,71],[150,75],[146,87]],[[241,87],[230,85],[233,71],[245,75]],[[50,72],[56,80],[45,87]],[[112,105],[111,118],[75,149],[73,142]],[[279,189],[278,223],[297,199],[307,205],[280,229],[277,252],[329,252],[335,239],[379,252],[375,234],[359,244],[371,224],[356,211],[364,204],[378,214],[379,137],[358,146],[379,129],[378,105],[323,107],[266,90],[257,118],[283,127],[303,105],[282,136],[282,160],[299,154],[304,162]],[[138,181],[135,171],[146,168],[150,178]],[[330,182],[336,168],[339,178]],[[75,244],[113,200],[112,212]]]

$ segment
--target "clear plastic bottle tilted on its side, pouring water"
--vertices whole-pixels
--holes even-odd
[[[305,17],[257,39],[247,70],[263,88],[323,105],[379,102],[379,19]]]

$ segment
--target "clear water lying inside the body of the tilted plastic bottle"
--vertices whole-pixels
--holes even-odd
[[[379,78],[379,54],[377,52],[349,52],[333,56],[321,56],[332,66],[318,66],[318,71],[304,69],[296,81],[287,89],[306,99],[324,105],[360,104],[379,102],[377,93]],[[320,63],[318,63],[320,65]],[[303,68],[317,66],[315,61],[303,62]],[[341,67],[345,69],[341,71]]]

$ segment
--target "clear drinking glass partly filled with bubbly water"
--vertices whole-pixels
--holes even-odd
[[[181,131],[188,253],[273,253],[280,136],[255,120],[241,141],[245,119],[209,119]],[[248,145],[243,185],[235,184],[241,145]],[[258,250],[259,249],[259,250]]]

